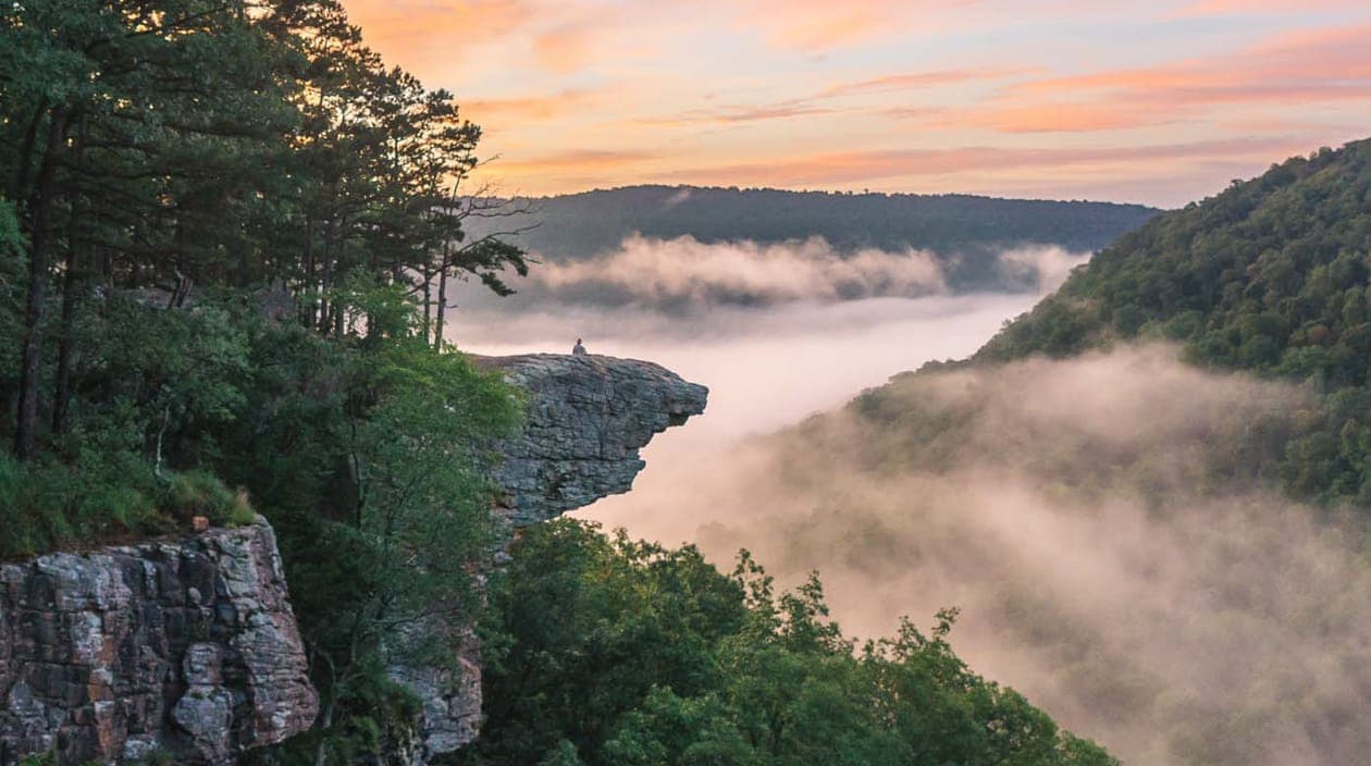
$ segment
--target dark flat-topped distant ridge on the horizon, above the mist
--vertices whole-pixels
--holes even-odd
[[[949,284],[961,289],[998,286],[1002,274],[994,269],[994,256],[1004,249],[1052,244],[1091,252],[1157,212],[1130,204],[969,195],[696,186],[628,186],[518,204],[528,212],[498,227],[520,230],[513,241],[551,262],[607,254],[633,234],[692,237],[705,244],[821,237],[840,254],[864,248],[935,252],[947,266]]]

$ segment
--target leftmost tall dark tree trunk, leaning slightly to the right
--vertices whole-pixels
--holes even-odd
[[[34,193],[32,234],[29,248],[29,289],[25,297],[23,348],[19,362],[19,412],[14,429],[14,454],[21,460],[34,456],[38,448],[38,381],[43,367],[43,319],[48,281],[48,249],[51,232],[48,218],[52,210],[53,177],[58,152],[67,137],[67,108],[52,110],[48,125],[48,147],[38,169]]]

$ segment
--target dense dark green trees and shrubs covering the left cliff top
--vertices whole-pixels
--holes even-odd
[[[0,558],[266,515],[311,762],[411,704],[381,648],[489,547],[518,403],[433,295],[524,269],[463,233],[478,138],[333,0],[0,7]]]

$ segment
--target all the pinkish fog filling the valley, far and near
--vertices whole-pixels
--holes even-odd
[[[1006,249],[997,267],[1035,289],[972,293],[947,288],[947,260],[632,237],[536,267],[511,299],[465,285],[447,337],[492,355],[580,337],[709,385],[633,492],[580,518],[725,569],[747,548],[783,585],[818,571],[858,637],[960,608],[973,667],[1126,761],[1371,745],[1338,724],[1371,689],[1353,670],[1371,625],[1339,606],[1371,593],[1363,536],[1245,473],[1308,417],[1301,389],[1168,345],[899,375],[969,356],[1089,258]]]

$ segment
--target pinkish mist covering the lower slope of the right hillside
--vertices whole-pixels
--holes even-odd
[[[958,606],[972,667],[1130,763],[1353,763],[1367,525],[1263,474],[1307,407],[1169,348],[908,375],[732,448],[668,436],[588,515],[817,569],[864,634]]]

